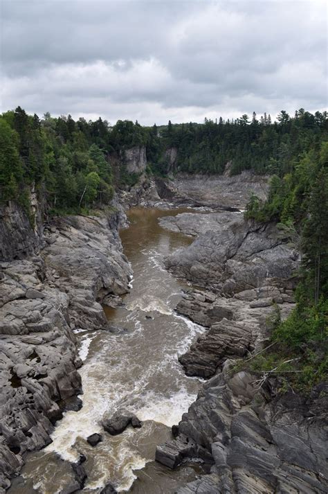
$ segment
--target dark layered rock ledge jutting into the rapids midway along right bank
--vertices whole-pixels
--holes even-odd
[[[262,348],[268,337],[267,321],[275,317],[275,307],[284,319],[295,306],[292,294],[286,294],[283,288],[264,286],[250,292],[252,290],[247,291],[246,300],[201,290],[184,294],[177,312],[210,328],[179,357],[188,376],[209,378],[226,358],[242,358]]]

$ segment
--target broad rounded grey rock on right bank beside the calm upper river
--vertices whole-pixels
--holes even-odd
[[[197,215],[183,213],[162,226],[200,234],[187,249],[178,249],[165,259],[177,276],[232,296],[237,292],[279,283],[289,290],[298,266],[298,254],[280,238],[274,224],[253,224],[239,213]],[[220,219],[221,217],[221,219]]]

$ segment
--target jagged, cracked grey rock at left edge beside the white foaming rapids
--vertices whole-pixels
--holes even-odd
[[[45,286],[38,258],[1,264],[0,487],[23,455],[51,443],[60,403],[80,393],[69,297]]]

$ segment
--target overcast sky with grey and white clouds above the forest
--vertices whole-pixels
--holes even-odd
[[[142,125],[327,109],[327,2],[0,0],[0,111]]]

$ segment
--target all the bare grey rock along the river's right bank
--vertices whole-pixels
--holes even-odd
[[[210,380],[156,459],[208,464],[210,473],[178,494],[327,492],[327,386],[308,398],[282,395],[275,378],[234,364],[262,351],[272,316],[293,308],[298,254],[275,225],[239,213],[183,213],[161,225],[197,237],[165,264],[206,289],[190,290],[176,309],[209,328],[179,360],[189,376]]]

